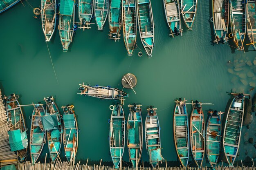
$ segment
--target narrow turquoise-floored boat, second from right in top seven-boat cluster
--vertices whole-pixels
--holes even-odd
[[[131,56],[136,47],[137,36],[137,8],[135,0],[123,0],[122,22],[124,44],[128,55]]]

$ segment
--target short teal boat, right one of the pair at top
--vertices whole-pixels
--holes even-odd
[[[189,30],[192,30],[195,21],[195,14],[197,11],[197,0],[181,0],[180,9],[183,21]]]

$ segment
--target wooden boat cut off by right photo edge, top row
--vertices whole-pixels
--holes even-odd
[[[255,0],[247,0],[247,35],[250,40],[250,44],[256,50],[256,15],[255,15]]]

